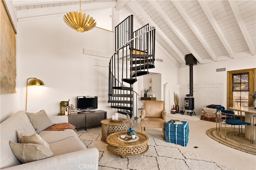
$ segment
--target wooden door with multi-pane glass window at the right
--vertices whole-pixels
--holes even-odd
[[[253,106],[255,68],[228,71],[227,78],[227,108]]]

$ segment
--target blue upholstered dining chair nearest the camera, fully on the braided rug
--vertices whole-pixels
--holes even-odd
[[[252,124],[252,119],[251,115],[243,115],[243,116],[250,116],[250,123],[240,121],[239,116],[240,115],[235,115],[234,111],[231,110],[221,110],[221,114],[225,115],[225,117],[222,117],[222,119],[225,119],[225,140],[226,140],[226,125],[231,125],[231,131],[232,131],[232,126],[234,125],[234,131],[235,131],[235,125],[251,125]],[[221,124],[220,124],[221,125]],[[222,128],[220,127],[220,137],[221,137],[221,132]],[[233,134],[233,131],[232,131]],[[252,143],[252,128],[250,128],[250,137],[251,137],[251,143]]]

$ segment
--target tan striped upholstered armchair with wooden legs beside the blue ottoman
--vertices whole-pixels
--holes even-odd
[[[141,132],[146,127],[162,128],[165,139],[166,113],[164,101],[146,100],[141,111]]]

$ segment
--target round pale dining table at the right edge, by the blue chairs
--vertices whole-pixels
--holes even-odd
[[[253,122],[253,115],[256,115],[256,109],[254,107],[229,107],[230,110],[234,110],[234,111],[244,111],[245,115],[250,115],[251,116],[251,126],[245,126],[244,127],[244,137],[246,137],[247,139],[250,139],[250,128],[252,130],[252,128],[254,128],[254,137],[253,140],[256,140],[256,126],[254,126],[252,124]],[[255,118],[256,119],[256,118]],[[249,116],[245,116],[244,118],[245,122],[249,122],[250,123],[250,117]]]

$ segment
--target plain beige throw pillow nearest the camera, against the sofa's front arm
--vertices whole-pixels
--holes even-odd
[[[13,154],[22,164],[54,156],[53,152],[44,145],[12,143],[10,141],[10,147]]]

